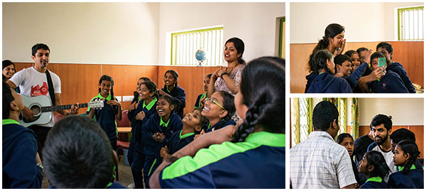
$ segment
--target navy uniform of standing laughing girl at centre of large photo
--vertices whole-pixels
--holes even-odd
[[[175,112],[170,113],[170,119],[168,122],[163,122],[158,113],[149,117],[149,120],[142,126],[142,139],[145,151],[145,163],[143,164],[143,175],[145,178],[145,185],[148,185],[148,176],[160,166],[162,161],[160,156],[161,146],[163,144],[169,144],[168,141],[174,132],[180,132],[183,124],[180,117]],[[156,132],[163,133],[165,138],[163,143],[155,141],[153,134]]]

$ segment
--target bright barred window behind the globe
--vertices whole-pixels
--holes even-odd
[[[197,66],[199,62],[195,59],[195,52],[202,48],[207,51],[207,60],[203,62],[204,66],[221,65],[223,36],[223,26],[172,33],[171,64],[175,66]]]

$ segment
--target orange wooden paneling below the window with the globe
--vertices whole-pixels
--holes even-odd
[[[203,79],[209,73],[213,73],[219,66],[159,66],[158,67],[158,86],[164,87],[165,71],[173,69],[178,72],[178,85],[185,90],[186,106],[183,110],[184,115],[194,109],[195,101],[200,93],[204,93]]]

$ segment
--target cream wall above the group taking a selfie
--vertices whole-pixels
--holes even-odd
[[[330,23],[345,27],[347,42],[395,39],[394,9],[423,3],[290,3],[290,43],[314,43]]]

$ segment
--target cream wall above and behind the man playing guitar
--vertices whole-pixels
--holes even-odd
[[[157,64],[160,3],[3,3],[3,58],[52,63]]]

